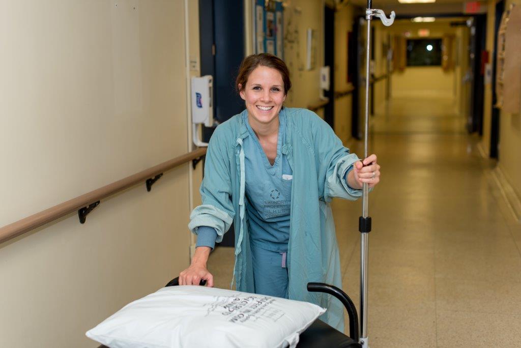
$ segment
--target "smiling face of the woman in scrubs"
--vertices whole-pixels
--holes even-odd
[[[239,94],[246,103],[251,120],[263,124],[279,116],[282,103],[286,100],[282,75],[277,69],[265,66],[258,66],[250,73],[246,86]]]

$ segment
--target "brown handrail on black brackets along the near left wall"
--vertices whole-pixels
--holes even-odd
[[[46,223],[59,219],[62,216],[77,212],[77,210],[80,208],[100,201],[103,198],[113,195],[119,191],[128,189],[135,184],[143,183],[146,179],[152,178],[159,173],[163,173],[184,163],[188,163],[193,159],[200,158],[205,154],[206,147],[198,148],[197,150],[188,154],[172,158],[162,164],[140,171],[139,173],[135,173],[134,175],[105,185],[102,188],[85,193],[79,197],[72,198],[72,200],[55,205],[52,208],[45,209],[43,212],[36,213],[24,219],[10,223],[9,225],[0,228],[0,243],[18,237],[23,233],[29,232],[35,228],[45,225]]]

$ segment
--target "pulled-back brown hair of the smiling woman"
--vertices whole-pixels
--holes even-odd
[[[282,59],[269,53],[252,54],[244,58],[239,68],[237,80],[235,80],[237,92],[244,90],[250,74],[259,65],[277,69],[280,72],[284,83],[284,95],[287,95],[291,88],[290,71]],[[241,88],[239,88],[239,85],[241,85]]]

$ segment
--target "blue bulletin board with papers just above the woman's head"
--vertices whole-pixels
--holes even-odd
[[[284,59],[284,12],[282,3],[254,0],[255,53],[270,53]]]

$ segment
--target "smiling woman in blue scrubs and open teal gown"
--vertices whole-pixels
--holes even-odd
[[[208,145],[203,204],[189,223],[197,247],[179,283],[213,286],[208,255],[233,221],[237,290],[316,303],[328,308],[321,319],[343,332],[340,302],[306,284],[341,287],[329,202],[355,200],[364,182],[374,187],[377,158],[362,163],[312,111],[283,107],[291,81],[276,56],[246,57],[236,86],[246,110],[217,127]]]

